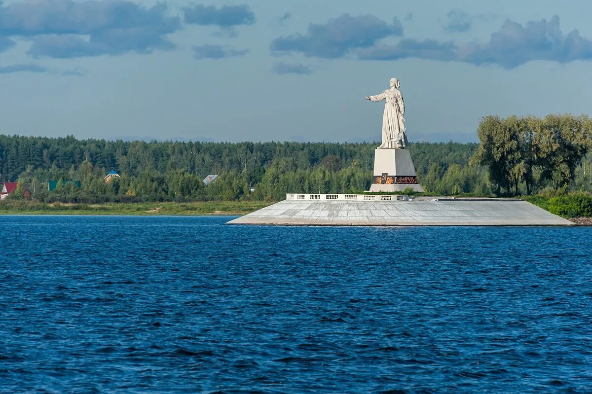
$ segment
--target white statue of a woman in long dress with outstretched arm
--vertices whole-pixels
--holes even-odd
[[[366,100],[382,101],[387,100],[384,105],[384,115],[382,115],[382,144],[379,149],[385,148],[405,148],[407,146],[407,134],[403,122],[405,105],[403,104],[403,95],[399,91],[401,84],[397,78],[391,78],[391,88],[385,90],[376,96],[366,96]]]

